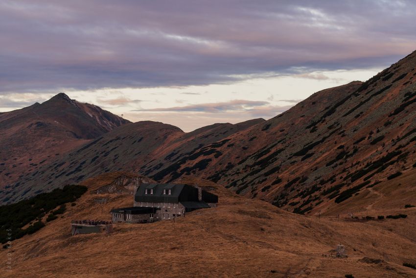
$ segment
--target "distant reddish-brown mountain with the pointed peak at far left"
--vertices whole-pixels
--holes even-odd
[[[0,188],[128,121],[60,93],[0,114]],[[19,185],[18,185],[19,186]]]

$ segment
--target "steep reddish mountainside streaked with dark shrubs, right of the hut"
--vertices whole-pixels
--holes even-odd
[[[416,52],[364,83],[318,92],[271,120],[164,163],[156,174],[156,161],[149,162],[142,173],[159,180],[197,175],[316,214],[416,167],[415,78]]]

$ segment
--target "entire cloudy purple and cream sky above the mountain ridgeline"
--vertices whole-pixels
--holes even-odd
[[[416,49],[416,1],[1,0],[0,112],[60,92],[191,131],[269,119]]]

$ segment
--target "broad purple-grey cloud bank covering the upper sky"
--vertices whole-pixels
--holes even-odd
[[[410,0],[6,0],[0,94],[324,79],[307,74],[413,51],[415,12]]]

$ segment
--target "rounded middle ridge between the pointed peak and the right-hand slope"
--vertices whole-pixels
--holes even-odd
[[[147,175],[169,165],[175,155],[187,155],[261,122],[264,120],[215,124],[189,133],[176,126],[151,121],[125,124],[38,166],[36,173],[22,173],[18,182],[2,193],[3,198],[16,202],[110,171],[128,170]],[[149,163],[151,169],[145,169]]]

